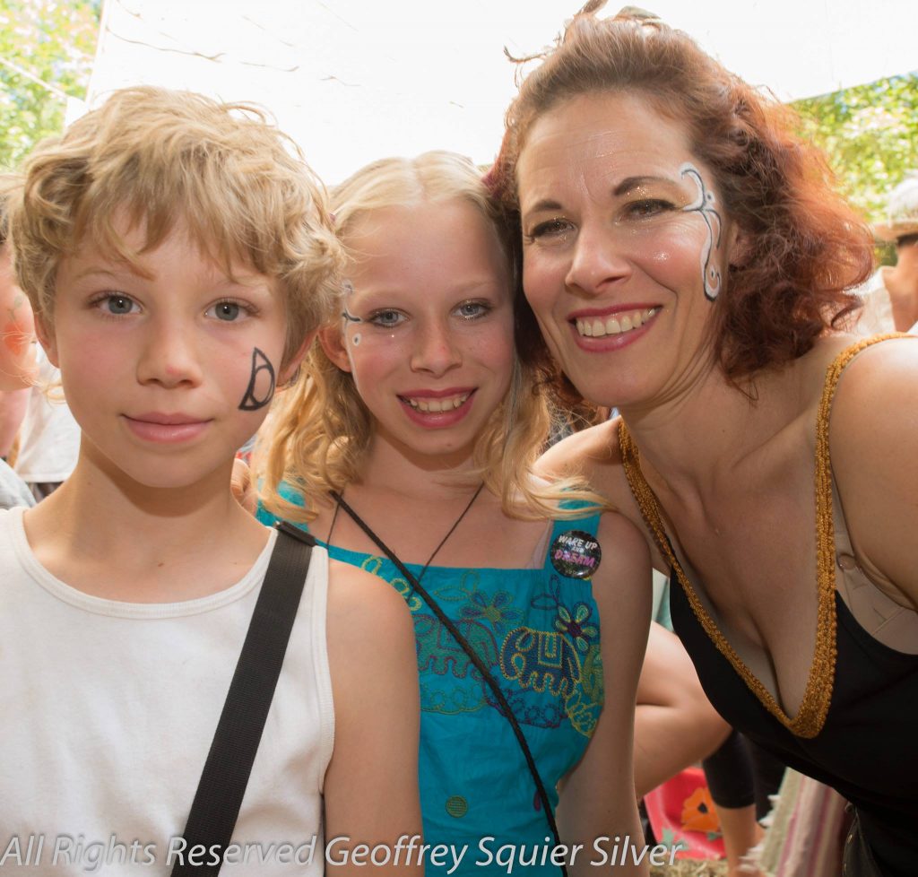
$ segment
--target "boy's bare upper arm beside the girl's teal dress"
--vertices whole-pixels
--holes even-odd
[[[325,841],[397,849],[420,838],[418,662],[405,602],[385,581],[331,561],[328,643],[335,702],[335,745],[325,775]],[[420,842],[420,841],[417,841]],[[420,877],[411,864],[341,865],[340,877]],[[405,841],[402,843],[404,850]]]

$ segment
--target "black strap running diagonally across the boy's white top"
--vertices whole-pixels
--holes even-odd
[[[277,530],[277,542],[185,825],[184,853],[176,858],[172,877],[218,873],[222,851],[232,839],[249,784],[316,544],[312,536],[289,523],[277,524]],[[193,865],[188,853],[197,845],[207,848],[207,854],[196,855],[202,864]],[[214,849],[218,856],[211,854]],[[212,863],[215,858],[217,864]]]

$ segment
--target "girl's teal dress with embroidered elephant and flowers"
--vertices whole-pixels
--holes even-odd
[[[285,499],[302,501],[284,488]],[[258,518],[268,525],[277,520],[263,508]],[[431,567],[422,579],[498,680],[553,808],[557,782],[581,758],[596,727],[603,690],[590,582],[561,575],[548,555],[558,536],[572,530],[595,535],[598,525],[599,515],[555,522],[540,568]],[[536,864],[517,864],[513,873],[557,877],[550,860],[538,863],[554,840],[520,745],[465,652],[386,557],[335,546],[329,554],[386,579],[414,617],[424,843],[453,845],[457,852],[465,846],[450,877],[506,875],[509,852],[498,855],[505,844],[526,845],[526,861],[538,854]],[[420,565],[406,566],[420,575]],[[427,860],[426,871],[445,875],[453,865],[447,855],[442,867]]]

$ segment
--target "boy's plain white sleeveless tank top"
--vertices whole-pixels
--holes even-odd
[[[0,872],[168,874],[276,534],[226,590],[129,603],[51,576],[23,511],[0,511]],[[317,547],[221,877],[323,871],[327,590]]]

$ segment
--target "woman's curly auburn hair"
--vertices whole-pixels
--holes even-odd
[[[591,0],[554,49],[534,56],[543,61],[507,111],[489,186],[519,223],[516,166],[535,121],[575,96],[646,96],[661,115],[686,126],[692,152],[711,168],[745,244],[711,327],[724,374],[735,382],[805,354],[859,307],[846,290],[873,269],[867,226],[835,193],[823,155],[794,133],[792,111],[725,70],[682,31],[635,9],[600,19],[604,5]]]

